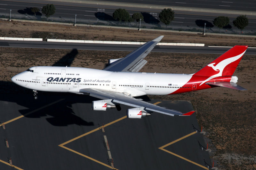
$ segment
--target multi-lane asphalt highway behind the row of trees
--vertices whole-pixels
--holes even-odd
[[[12,9],[11,16],[14,18],[26,18],[33,20],[34,19],[34,14],[31,13],[27,8],[29,7],[38,7],[40,10],[42,9],[42,6],[47,3],[53,3],[56,8],[56,12],[53,15],[53,20],[61,20],[62,22],[70,22],[73,23],[75,20],[75,14],[76,16],[76,21],[85,21],[86,22],[96,22],[97,21],[114,21],[115,19],[112,17],[113,12],[117,9],[117,6],[113,5],[98,5],[98,4],[84,4],[84,3],[67,3],[67,2],[58,2],[58,1],[36,1],[36,2],[22,2],[22,1],[0,1],[0,15],[4,15],[7,18],[9,17],[10,14],[10,9]],[[104,2],[104,1],[103,1]],[[107,1],[106,1],[107,2]],[[122,2],[122,1],[119,1]],[[154,1],[139,1],[137,3],[153,3]],[[160,3],[158,1],[155,1],[157,3]],[[226,2],[226,1],[223,1]],[[202,1],[195,1],[195,4],[191,4],[191,7],[197,7],[201,8],[200,5],[198,4],[210,4],[210,6],[214,6],[217,4],[223,4],[222,1],[217,2],[216,1],[207,1],[207,2],[202,2]],[[162,1],[161,1],[162,3]],[[170,2],[170,3],[176,3],[176,2]],[[186,2],[188,3],[188,2]],[[192,1],[190,2],[192,3]],[[188,3],[188,4],[190,4]],[[194,1],[193,1],[194,3]],[[177,3],[176,3],[177,4]],[[178,3],[179,5],[182,3]],[[211,5],[212,4],[212,5]],[[255,3],[253,1],[248,1],[247,3],[245,2],[238,2],[235,1],[233,3],[224,3],[224,4],[235,4],[234,10],[246,10],[250,11],[252,8],[255,11]],[[165,4],[165,5],[168,5]],[[182,4],[186,5],[186,4]],[[243,6],[245,5],[245,6]],[[176,5],[177,6],[177,5]],[[218,5],[217,5],[218,6]],[[121,6],[118,6],[118,8]],[[218,6],[219,8],[216,9],[222,9],[225,6]],[[125,6],[125,8],[130,15],[132,16],[133,13],[135,12],[142,12],[144,16],[144,21],[142,21],[142,26],[145,23],[150,23],[154,24],[155,26],[164,26],[162,22],[160,22],[160,19],[158,17],[159,13],[161,12],[162,9],[150,9],[150,8],[143,8],[143,7],[136,7],[136,4],[133,5],[132,7]],[[205,8],[205,7],[204,7]],[[226,7],[224,8],[226,9]],[[251,10],[251,11],[253,11]],[[229,11],[229,9],[227,9]],[[100,12],[99,15],[96,13]],[[235,26],[233,26],[233,20],[236,19],[238,16],[237,14],[225,14],[225,13],[211,13],[210,11],[202,10],[200,12],[195,12],[195,11],[189,11],[189,10],[181,10],[181,11],[175,11],[175,18],[170,24],[170,26],[174,27],[181,27],[183,29],[186,28],[197,28],[199,29],[200,27],[204,27],[204,23],[206,24],[206,28],[214,28],[217,31],[217,27],[213,25],[213,20],[214,18],[218,16],[227,16],[230,18],[229,26],[227,27],[228,29],[237,29]],[[44,17],[42,16],[42,13],[36,18],[41,19]],[[256,17],[252,15],[247,15],[249,18],[249,25],[245,27],[245,30],[255,30],[256,26]],[[90,19],[90,20],[89,20]],[[245,31],[244,30],[244,31]]]

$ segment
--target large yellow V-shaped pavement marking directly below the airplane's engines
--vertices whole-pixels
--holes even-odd
[[[158,102],[154,103],[154,105],[157,105],[157,104],[159,104],[159,103],[161,103],[161,101],[158,101]],[[117,119],[117,120],[115,120],[115,121],[113,121],[113,122],[110,122],[110,123],[104,125],[104,128],[107,127],[107,126],[109,126],[109,125],[112,125],[112,124],[114,124],[114,123],[116,123],[116,122],[119,122],[119,121],[125,119],[126,117],[127,117],[127,116],[124,116],[124,117],[121,117],[121,118],[119,118],[119,119]],[[64,143],[62,143],[62,144],[59,144],[59,146],[62,147],[62,148],[64,148],[64,149],[67,149],[68,151],[74,152],[74,153],[76,153],[76,154],[78,154],[78,155],[81,155],[81,156],[83,156],[83,157],[85,157],[85,158],[88,158],[88,159],[90,159],[90,160],[92,160],[92,161],[94,161],[94,162],[97,162],[97,163],[99,163],[99,164],[101,164],[101,165],[104,165],[104,166],[107,166],[108,168],[113,169],[112,166],[109,166],[109,165],[107,165],[107,164],[104,164],[103,162],[100,162],[100,161],[98,161],[98,160],[96,160],[96,159],[93,159],[93,158],[91,158],[91,157],[89,157],[89,156],[87,156],[87,155],[84,155],[84,154],[82,154],[82,153],[80,153],[80,152],[74,151],[74,150],[69,149],[68,147],[64,146],[65,144],[68,144],[68,143],[70,143],[70,142],[73,142],[73,141],[76,140],[76,139],[79,139],[79,138],[81,138],[81,137],[84,137],[84,136],[86,136],[86,135],[89,135],[89,134],[91,134],[91,133],[93,133],[93,132],[95,132],[95,131],[97,131],[97,130],[102,129],[102,128],[103,128],[103,126],[100,126],[99,128],[93,129],[93,130],[91,130],[91,131],[89,131],[89,132],[87,132],[87,133],[84,133],[83,135],[80,135],[80,136],[78,136],[78,137],[75,137],[75,138],[73,138],[73,139],[70,139],[70,140],[67,141],[67,142],[64,142]]]

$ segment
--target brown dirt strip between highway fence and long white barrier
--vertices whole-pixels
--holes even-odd
[[[0,37],[98,40],[98,41],[150,41],[164,35],[161,42],[204,43],[207,46],[248,45],[256,47],[256,38],[215,36],[189,33],[137,31],[129,29],[66,26],[0,20]]]

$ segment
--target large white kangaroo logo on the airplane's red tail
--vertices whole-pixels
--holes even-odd
[[[216,66],[213,65],[213,64],[215,64],[215,63],[210,63],[210,64],[208,64],[207,66],[212,67],[212,69],[215,70],[215,71],[219,71],[219,73],[217,73],[217,74],[215,74],[215,75],[212,75],[211,77],[207,78],[207,79],[204,80],[200,85],[204,84],[204,83],[205,83],[206,81],[208,81],[208,80],[211,80],[212,78],[215,78],[215,77],[218,77],[218,76],[222,76],[222,72],[223,72],[224,68],[225,68],[228,64],[230,64],[230,63],[232,63],[232,62],[238,60],[240,57],[242,57],[242,56],[244,55],[244,53],[245,53],[245,51],[244,51],[242,54],[239,54],[239,55],[236,55],[236,56],[234,56],[234,57],[230,57],[230,58],[227,58],[227,59],[225,59],[225,60],[222,60],[222,61],[221,61],[220,63],[218,63]],[[200,85],[199,85],[199,86],[200,86]]]

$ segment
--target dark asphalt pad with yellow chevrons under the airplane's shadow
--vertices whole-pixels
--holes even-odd
[[[1,82],[1,85],[6,84],[9,83]],[[121,106],[121,111],[92,111],[91,102],[98,99],[89,96],[39,92],[38,97],[34,100],[30,90],[0,94],[1,123],[24,115],[6,124],[5,129],[0,128],[0,169],[13,169],[3,163],[8,163],[9,159],[14,166],[24,170],[109,169],[107,166],[111,166],[112,159],[109,159],[103,135],[108,139],[117,169],[204,169],[189,161],[204,167],[211,165],[200,133],[164,148],[178,156],[158,149],[200,129],[195,114],[172,117],[152,113],[143,119],[124,118],[105,127],[105,132],[100,129],[78,137],[124,117],[129,107]],[[159,106],[184,113],[193,110],[188,101],[149,102],[157,101],[161,101]],[[75,137],[78,138],[64,145],[66,148],[59,146]]]

